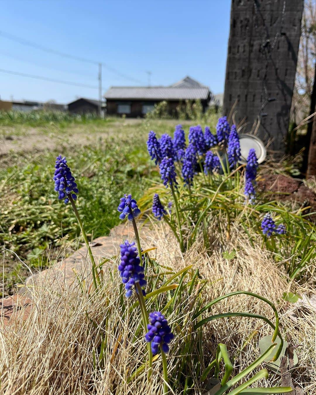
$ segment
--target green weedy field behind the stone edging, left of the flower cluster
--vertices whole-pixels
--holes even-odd
[[[0,243],[6,251],[0,276],[4,295],[26,275],[15,254],[31,267],[45,267],[48,254],[53,260],[55,248],[62,243],[71,251],[71,243],[79,236],[72,210],[58,201],[54,191],[55,157],[66,156],[76,169],[74,176],[80,176],[79,209],[90,237],[92,231],[93,237],[107,235],[119,221],[117,199],[125,191],[140,198],[157,176],[146,149],[149,130],[172,134],[175,124],[174,120],[136,119],[2,120]]]

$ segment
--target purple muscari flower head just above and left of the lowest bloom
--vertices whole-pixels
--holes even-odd
[[[122,277],[122,283],[125,284],[126,297],[132,296],[132,288],[137,282],[142,287],[147,284],[144,275],[144,268],[140,265],[141,260],[137,254],[137,248],[134,247],[135,243],[128,243],[128,240],[124,241],[124,244],[120,245],[120,256],[121,261],[119,264],[120,277]],[[135,286],[136,293],[138,290]],[[143,295],[146,293],[142,290]]]

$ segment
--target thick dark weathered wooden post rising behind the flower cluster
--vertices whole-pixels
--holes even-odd
[[[284,152],[301,31],[303,0],[232,0],[224,115],[260,120],[259,137]]]

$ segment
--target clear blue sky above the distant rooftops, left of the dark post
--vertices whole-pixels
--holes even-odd
[[[146,71],[151,85],[190,75],[213,93],[224,91],[230,0],[0,0],[0,9],[1,70],[98,85],[96,64],[6,38],[11,35],[117,70],[103,67],[103,93],[111,85],[147,85]],[[98,98],[98,90],[0,71],[0,97],[12,96],[68,103]]]

